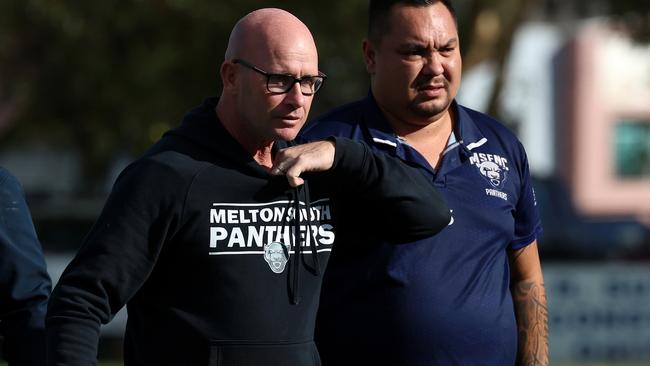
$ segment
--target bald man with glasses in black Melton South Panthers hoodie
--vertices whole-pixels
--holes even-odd
[[[319,365],[337,230],[401,242],[449,222],[425,176],[397,159],[338,138],[286,148],[325,80],[293,15],[242,18],[220,72],[221,96],[115,183],[51,297],[50,365],[95,364],[100,324],[125,304],[126,365]],[[349,202],[372,225],[337,220]]]

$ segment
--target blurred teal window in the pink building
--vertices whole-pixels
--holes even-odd
[[[615,128],[616,175],[650,177],[650,120],[621,120]]]

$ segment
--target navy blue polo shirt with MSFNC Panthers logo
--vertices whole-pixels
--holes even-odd
[[[526,153],[499,122],[451,108],[457,120],[438,170],[395,135],[372,95],[303,132],[365,141],[420,167],[452,210],[438,235],[400,244],[375,235],[364,208],[347,212],[358,225],[337,232],[316,327],[325,366],[515,363],[506,250],[541,232]]]

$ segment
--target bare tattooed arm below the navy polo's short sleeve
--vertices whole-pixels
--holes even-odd
[[[537,241],[508,254],[517,318],[517,365],[547,366],[548,307]]]

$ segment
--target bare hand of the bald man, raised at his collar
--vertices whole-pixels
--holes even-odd
[[[310,142],[282,149],[273,159],[271,174],[286,175],[289,185],[297,187],[305,183],[300,174],[329,170],[334,165],[335,150],[333,141]]]

